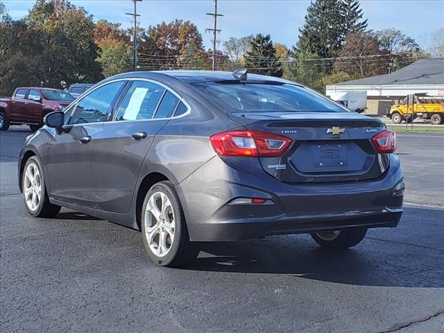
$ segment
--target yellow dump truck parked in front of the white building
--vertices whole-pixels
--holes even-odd
[[[392,105],[387,117],[393,123],[423,118],[439,125],[444,123],[444,96],[407,96],[401,104]]]

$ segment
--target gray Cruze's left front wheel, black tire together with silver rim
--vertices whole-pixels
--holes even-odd
[[[21,181],[24,204],[29,214],[35,217],[53,217],[60,212],[62,207],[49,202],[42,164],[37,156],[29,157],[26,161]]]

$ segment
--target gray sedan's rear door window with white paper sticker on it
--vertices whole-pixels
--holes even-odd
[[[152,119],[165,88],[148,81],[134,81],[126,93],[116,121]]]

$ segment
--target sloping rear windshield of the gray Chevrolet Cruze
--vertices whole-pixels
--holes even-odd
[[[216,103],[243,112],[346,112],[332,101],[289,84],[195,83]]]

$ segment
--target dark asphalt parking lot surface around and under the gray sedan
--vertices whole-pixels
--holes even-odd
[[[398,228],[339,252],[307,235],[206,244],[188,269],[155,266],[135,230],[28,216],[29,134],[0,133],[1,332],[444,332],[444,133],[398,133]]]

